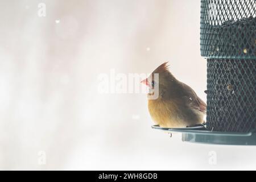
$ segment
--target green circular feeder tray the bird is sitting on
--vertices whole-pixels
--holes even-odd
[[[229,145],[256,145],[256,133],[236,133],[209,131],[205,125],[196,125],[185,128],[163,128],[159,125],[151,126],[152,129],[167,131],[168,133],[181,133],[183,142],[204,144],[229,144]]]

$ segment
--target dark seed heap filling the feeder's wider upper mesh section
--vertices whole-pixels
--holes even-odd
[[[250,56],[256,49],[255,28],[253,27],[255,22],[256,17],[253,16],[237,20],[229,19],[221,24],[214,24],[211,21],[201,22],[204,27],[201,35],[209,36],[209,39],[203,37],[201,39],[202,55],[219,58]]]

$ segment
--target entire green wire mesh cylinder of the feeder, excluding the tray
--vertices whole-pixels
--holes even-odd
[[[207,129],[256,129],[256,1],[201,0]]]

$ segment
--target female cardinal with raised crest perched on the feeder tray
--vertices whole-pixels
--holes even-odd
[[[168,70],[167,63],[160,65],[150,77],[142,81],[151,90],[148,97],[154,94],[156,87],[159,91],[158,98],[148,99],[151,118],[156,125],[168,128],[202,124],[207,105],[190,86],[180,82],[172,75]],[[158,73],[158,79],[154,79],[154,73]]]

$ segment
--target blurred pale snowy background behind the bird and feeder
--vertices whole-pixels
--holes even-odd
[[[169,138],[151,129],[146,95],[97,90],[112,68],[169,61],[206,101],[200,0],[2,0],[0,10],[0,169],[256,169],[256,147]]]

